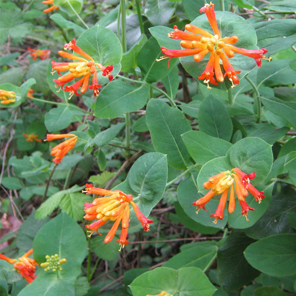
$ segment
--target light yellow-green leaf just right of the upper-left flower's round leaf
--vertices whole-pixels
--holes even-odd
[[[142,34],[141,37],[138,39],[138,41],[129,49],[127,52],[123,53],[122,59],[121,59],[121,71],[124,72],[133,72],[137,65],[137,57],[144,46],[144,44],[147,42],[146,35]]]

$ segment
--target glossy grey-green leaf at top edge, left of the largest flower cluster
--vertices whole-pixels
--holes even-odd
[[[175,5],[167,0],[148,0],[144,13],[153,25],[165,25],[174,14]]]

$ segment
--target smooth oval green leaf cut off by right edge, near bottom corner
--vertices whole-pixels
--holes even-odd
[[[296,274],[296,234],[276,234],[252,243],[244,251],[247,261],[271,276]],[[258,253],[260,250],[260,253]]]

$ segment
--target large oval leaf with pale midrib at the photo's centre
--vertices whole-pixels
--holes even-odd
[[[150,99],[146,107],[146,123],[155,150],[168,155],[168,165],[171,167],[185,168],[190,155],[181,134],[192,128],[182,112],[165,102]]]

